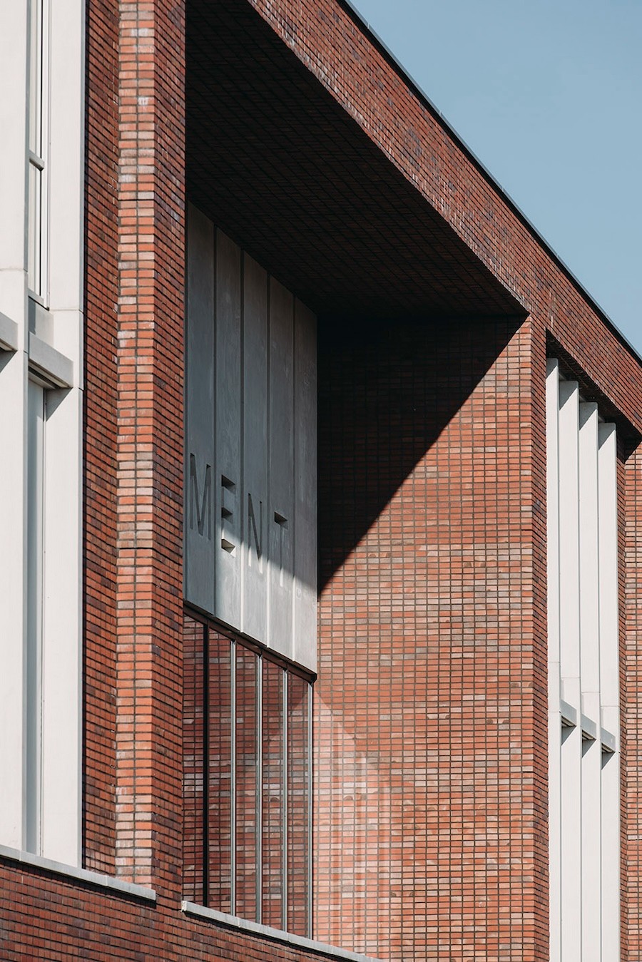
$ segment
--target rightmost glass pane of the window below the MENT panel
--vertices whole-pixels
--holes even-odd
[[[308,690],[288,675],[288,931],[306,935],[308,904]]]

